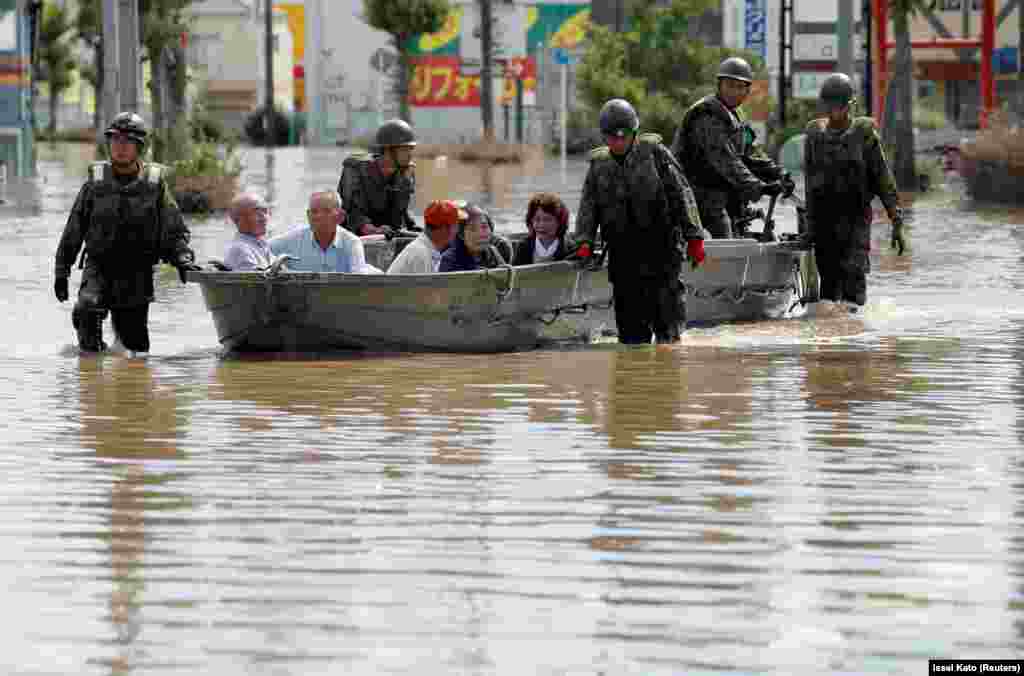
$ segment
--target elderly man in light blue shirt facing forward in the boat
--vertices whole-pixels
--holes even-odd
[[[334,191],[313,193],[306,210],[308,225],[293,227],[270,240],[275,256],[287,254],[288,269],[295,272],[367,272],[362,242],[341,224],[345,210]]]

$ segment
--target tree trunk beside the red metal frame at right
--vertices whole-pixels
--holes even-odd
[[[889,91],[896,99],[887,104],[893,115],[885,116],[883,136],[893,146],[893,175],[904,189],[918,189],[913,147],[913,59],[910,54],[910,18],[934,6],[934,0],[889,0],[896,35],[895,68]]]

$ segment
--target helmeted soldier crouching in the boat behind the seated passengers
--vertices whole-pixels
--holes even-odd
[[[359,236],[419,230],[409,213],[416,195],[413,149],[416,133],[403,120],[388,120],[374,135],[371,154],[345,158],[338,193],[348,218],[345,227]]]

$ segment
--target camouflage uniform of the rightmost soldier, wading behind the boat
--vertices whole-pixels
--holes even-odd
[[[863,305],[870,271],[871,199],[882,199],[890,219],[902,219],[896,181],[871,118],[845,130],[825,118],[807,125],[804,176],[807,225],[814,242],[821,297]]]

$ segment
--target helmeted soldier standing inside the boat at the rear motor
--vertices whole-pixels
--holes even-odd
[[[672,152],[693,185],[700,218],[715,238],[743,237],[732,220],[764,195],[790,195],[793,180],[756,144],[737,111],[751,93],[754,71],[732,56],[718,69],[718,91],[683,116]]]

